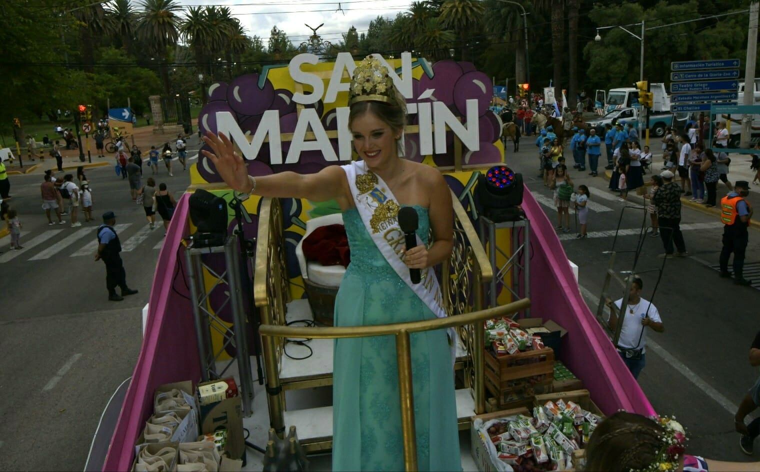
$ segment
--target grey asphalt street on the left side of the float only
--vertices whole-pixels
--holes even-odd
[[[198,147],[193,136],[188,157]],[[127,181],[114,173],[112,157],[100,160],[111,164],[85,169],[95,221],[84,223],[80,215],[78,228],[47,225],[41,169],[10,176],[9,203],[24,225],[25,249],[11,252],[9,236],[0,239],[0,470],[84,470],[100,414],[138,358],[163,225],[156,215],[150,230]],[[143,167],[144,182],[151,171]],[[179,196],[189,173],[176,160],[173,167],[170,177],[160,163],[156,182]],[[139,290],[122,302],[109,302],[105,267],[93,259],[97,226],[109,210],[122,228],[127,283]]]

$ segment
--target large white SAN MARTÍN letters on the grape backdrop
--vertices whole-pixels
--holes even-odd
[[[448,109],[445,103],[435,101],[435,89],[423,90],[419,97],[413,97],[413,78],[412,78],[412,55],[410,52],[401,54],[401,75],[396,74],[394,68],[388,65],[388,62],[379,54],[373,55],[380,60],[387,68],[388,73],[393,79],[397,89],[404,95],[407,100],[425,100],[429,102],[407,103],[407,113],[416,114],[420,125],[420,154],[445,154],[446,149],[446,127],[462,141],[464,147],[468,150],[480,150],[480,141],[478,139],[478,101],[468,99],[466,101],[466,116],[464,123],[454,116],[454,113]],[[356,68],[353,57],[348,52],[340,52],[335,59],[331,78],[328,82],[327,90],[325,83],[318,75],[308,71],[302,71],[303,64],[317,64],[319,58],[314,54],[296,55],[288,65],[288,71],[293,81],[312,87],[310,93],[293,93],[293,100],[303,105],[317,103],[324,98],[324,103],[334,103],[337,100],[337,94],[349,90],[350,84],[341,81],[344,70],[353,77],[353,71]],[[249,141],[245,137],[238,122],[230,112],[216,112],[217,130],[227,135],[240,148],[245,159],[255,160],[264,139],[269,138],[269,154],[272,164],[292,164],[298,163],[300,154],[303,151],[318,150],[324,154],[325,160],[351,160],[351,140],[352,135],[348,129],[349,107],[340,106],[335,109],[337,119],[337,140],[338,154],[330,144],[324,125],[313,108],[302,109],[299,113],[296,129],[293,132],[293,139],[288,150],[287,157],[283,162],[282,147],[280,141],[280,112],[276,109],[270,109],[264,112],[261,122],[256,128],[253,138]],[[311,128],[315,139],[306,141],[306,133]]]

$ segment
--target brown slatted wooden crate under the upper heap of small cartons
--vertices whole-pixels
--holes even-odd
[[[550,348],[494,356],[484,350],[486,390],[499,408],[530,407],[534,396],[552,391],[554,351]]]

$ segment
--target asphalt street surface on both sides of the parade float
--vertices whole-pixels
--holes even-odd
[[[537,151],[530,141],[524,138],[517,154],[509,144],[507,163],[524,173],[528,187],[555,221],[552,195],[537,179]],[[191,138],[188,149],[188,157],[195,156],[197,138]],[[149,173],[146,168],[144,175]],[[174,174],[167,176],[162,167],[157,182],[182,192],[188,173],[175,170]],[[610,261],[603,251],[612,249],[619,220],[624,231],[616,249],[634,249],[644,214],[627,208],[620,219],[624,204],[606,190],[603,173],[594,178],[574,171],[571,176],[576,185],[583,183],[591,190],[591,237],[579,240],[575,233],[562,233],[562,245],[579,266],[581,293],[595,312]],[[147,230],[142,208],[131,201],[126,181],[114,175],[112,166],[87,169],[87,178],[97,220],[71,228],[47,226],[40,209],[40,173],[11,176],[11,201],[24,223],[21,244],[27,249],[11,252],[9,259],[8,237],[0,239],[5,301],[0,311],[0,470],[82,470],[100,414],[137,360],[141,311],[163,230],[161,226]],[[632,197],[629,204],[640,205],[641,198]],[[128,284],[140,290],[119,303],[107,300],[103,264],[84,249],[92,245],[100,215],[108,210],[116,213],[117,224],[128,225],[119,236],[122,245],[132,249],[122,258]],[[747,460],[733,432],[733,407],[758,375],[747,357],[760,330],[755,319],[760,291],[737,287],[708,268],[717,264],[720,252],[722,228],[717,216],[685,207],[682,225],[690,256],[667,260],[659,285],[656,272],[642,275],[644,298],[652,299],[657,285],[653,301],[665,332],[648,333],[647,366],[639,382],[659,413],[673,414],[687,427],[690,453]],[[91,231],[72,236],[83,228]],[[35,238],[47,239],[32,247]],[[752,228],[748,262],[758,261],[758,249],[760,231]],[[645,238],[637,271],[660,268],[663,260],[657,255],[662,252],[659,238]],[[618,256],[617,270],[631,267],[630,254]],[[613,298],[620,296],[622,291]]]

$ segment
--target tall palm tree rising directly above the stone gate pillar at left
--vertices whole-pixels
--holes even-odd
[[[169,48],[179,40],[179,17],[176,12],[182,7],[176,0],[143,0],[140,20],[135,30],[138,39],[147,46],[160,60],[161,79],[166,95],[171,92],[169,84],[169,69],[166,65]]]

